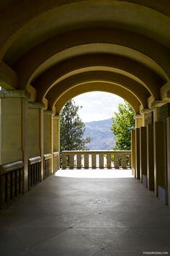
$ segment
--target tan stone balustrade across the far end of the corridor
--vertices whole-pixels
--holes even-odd
[[[130,150],[63,151],[65,168],[131,168]]]

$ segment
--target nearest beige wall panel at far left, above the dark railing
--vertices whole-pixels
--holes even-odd
[[[0,162],[22,160],[22,99],[1,98]]]

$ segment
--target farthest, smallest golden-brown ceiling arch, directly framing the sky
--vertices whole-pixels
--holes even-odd
[[[71,98],[76,97],[82,93],[89,93],[92,91],[102,91],[106,93],[114,93],[125,101],[128,101],[136,114],[139,114],[140,101],[133,95],[129,90],[120,90],[119,85],[112,85],[110,82],[85,82],[81,85],[76,85],[75,87],[69,88],[61,97],[55,101],[55,114],[60,114],[61,108],[69,101]]]

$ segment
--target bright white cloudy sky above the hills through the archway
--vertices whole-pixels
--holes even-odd
[[[109,119],[117,111],[123,99],[112,93],[84,93],[73,98],[76,105],[82,106],[79,116],[83,121],[98,121]]]

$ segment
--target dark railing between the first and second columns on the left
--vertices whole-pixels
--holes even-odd
[[[28,160],[28,189],[41,181],[41,157]]]

